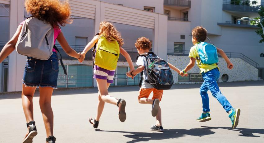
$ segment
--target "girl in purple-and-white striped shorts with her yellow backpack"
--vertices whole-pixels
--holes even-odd
[[[114,25],[109,22],[102,21],[100,23],[99,35],[93,37],[93,39],[86,45],[81,54],[85,57],[85,54],[96,43],[97,47],[95,50],[95,54],[93,55],[93,78],[96,79],[99,90],[98,106],[95,118],[89,118],[89,122],[93,124],[94,128],[97,128],[99,125],[105,102],[117,105],[119,110],[119,119],[121,122],[125,122],[125,100],[116,99],[112,95],[108,94],[108,88],[110,84],[113,83],[119,53],[121,53],[125,57],[131,71],[134,71],[134,66],[130,55],[121,47],[124,44],[123,39],[121,38],[121,34],[116,30]]]

